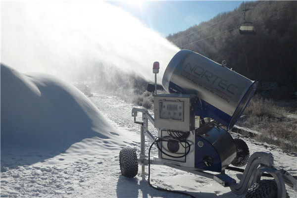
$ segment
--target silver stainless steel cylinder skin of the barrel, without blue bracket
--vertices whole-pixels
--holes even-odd
[[[248,78],[190,50],[179,51],[169,62],[162,85],[172,93],[170,82],[181,87],[184,94],[196,94],[230,116],[253,84]]]

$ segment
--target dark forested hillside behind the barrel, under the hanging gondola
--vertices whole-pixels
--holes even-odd
[[[246,8],[253,35],[239,32]],[[297,97],[297,1],[246,1],[167,39],[218,63],[226,60],[228,68],[258,80],[263,97]]]

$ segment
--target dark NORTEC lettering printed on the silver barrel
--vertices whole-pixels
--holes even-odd
[[[198,79],[202,79],[214,85],[215,87],[219,87],[222,90],[226,90],[229,94],[234,95],[235,90],[239,88],[232,83],[229,84],[227,80],[222,79],[221,77],[213,74],[212,72],[202,67],[199,67],[198,65],[192,66],[190,62],[185,64],[184,68],[185,70],[187,69],[188,71],[190,71],[192,74],[195,74],[196,78],[199,77]]]

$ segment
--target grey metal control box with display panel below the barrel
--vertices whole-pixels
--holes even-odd
[[[194,94],[154,96],[154,127],[178,131],[195,130]]]

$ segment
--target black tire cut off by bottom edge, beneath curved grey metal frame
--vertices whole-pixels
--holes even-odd
[[[277,198],[277,184],[274,180],[260,180],[248,189],[246,198]],[[288,193],[286,198],[290,198]]]

